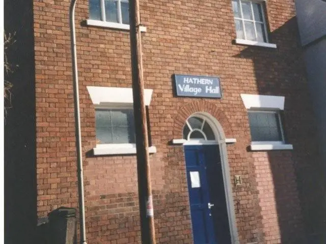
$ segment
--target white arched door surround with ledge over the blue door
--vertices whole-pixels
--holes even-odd
[[[212,115],[206,112],[196,112],[193,113],[190,117],[200,117],[205,119],[205,121],[211,127],[215,140],[173,140],[176,144],[183,144],[183,145],[219,145],[220,148],[220,155],[221,155],[221,163],[222,163],[222,174],[223,174],[223,181],[224,181],[224,190],[225,190],[225,197],[226,197],[226,205],[228,211],[228,220],[229,220],[229,228],[231,234],[231,242],[232,244],[238,244],[238,232],[236,227],[236,219],[235,219],[235,211],[234,211],[234,202],[232,196],[232,181],[230,177],[230,167],[228,161],[228,153],[227,153],[227,141],[235,142],[235,139],[226,139],[223,127],[219,123],[219,121],[214,118]],[[186,121],[187,121],[186,120]],[[185,122],[186,122],[185,121]],[[178,143],[179,142],[179,143]]]

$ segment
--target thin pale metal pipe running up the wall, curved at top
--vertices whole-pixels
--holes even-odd
[[[70,37],[71,37],[71,57],[73,75],[73,98],[75,112],[75,135],[77,151],[77,175],[78,175],[78,203],[79,203],[79,225],[80,243],[86,242],[85,228],[85,201],[84,201],[84,179],[83,179],[83,157],[82,157],[82,137],[80,136],[80,112],[79,112],[79,90],[78,90],[78,68],[76,55],[76,34],[75,34],[75,5],[76,0],[72,0],[69,9]]]

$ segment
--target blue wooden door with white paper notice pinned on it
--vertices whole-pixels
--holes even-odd
[[[184,147],[194,244],[230,244],[218,145]]]

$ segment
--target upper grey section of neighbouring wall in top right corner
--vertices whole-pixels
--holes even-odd
[[[295,0],[295,8],[303,46],[326,36],[326,2]]]

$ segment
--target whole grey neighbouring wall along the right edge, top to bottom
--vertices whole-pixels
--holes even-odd
[[[326,175],[326,1],[295,0],[295,7],[318,127],[318,147],[324,168],[323,173]],[[326,180],[326,177],[323,179]],[[320,182],[323,186],[326,185],[324,180]],[[323,205],[326,206],[326,193],[325,190],[323,191]],[[324,214],[320,213],[320,218],[323,218],[323,226],[320,233],[310,236],[310,243],[326,243],[326,233],[322,231],[326,228],[325,209]]]

